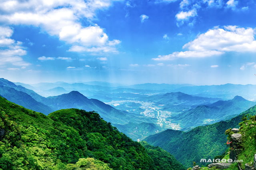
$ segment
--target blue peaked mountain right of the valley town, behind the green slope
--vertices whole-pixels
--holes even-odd
[[[182,130],[190,130],[200,125],[228,120],[227,118],[231,119],[255,104],[255,102],[235,96],[232,100],[198,106],[185,113],[175,115],[171,119],[180,124]]]

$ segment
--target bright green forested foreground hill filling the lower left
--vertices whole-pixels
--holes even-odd
[[[62,109],[48,116],[0,97],[0,168],[184,170],[160,148],[132,141],[98,113]]]

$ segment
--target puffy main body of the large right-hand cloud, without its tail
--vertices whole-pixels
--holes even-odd
[[[193,51],[250,51],[256,52],[255,32],[252,28],[224,26],[200,34],[195,40],[186,43],[183,48]]]

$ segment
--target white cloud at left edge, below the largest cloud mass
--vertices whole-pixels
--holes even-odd
[[[13,30],[10,27],[0,26],[0,65],[7,63],[16,66],[30,65],[22,58],[23,55],[27,54],[22,42],[11,39],[12,34]]]

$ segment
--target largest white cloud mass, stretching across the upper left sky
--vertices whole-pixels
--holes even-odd
[[[108,40],[103,28],[93,24],[96,10],[106,9],[114,0],[8,0],[0,2],[0,22],[14,25],[32,25],[40,27],[51,36],[71,45],[69,51],[112,52],[116,51],[113,42]],[[80,18],[87,18],[90,26],[82,26]],[[112,47],[106,48],[112,43]],[[80,50],[75,48],[78,45]],[[115,44],[114,44],[115,45]],[[93,50],[90,50],[94,48]],[[76,50],[72,50],[76,49]]]

